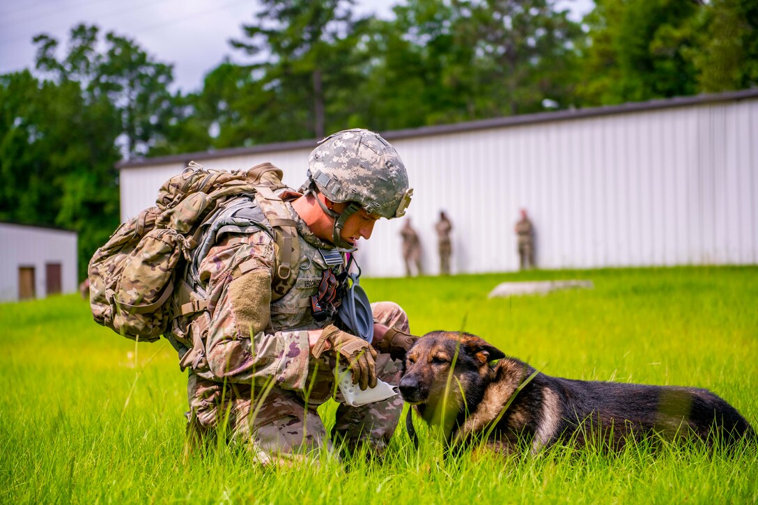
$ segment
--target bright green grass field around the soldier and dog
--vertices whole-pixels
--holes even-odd
[[[487,300],[502,281],[594,290]],[[758,268],[534,271],[366,279],[412,331],[465,329],[550,375],[707,387],[758,428]],[[92,322],[77,296],[0,305],[2,503],[756,503],[758,447],[557,447],[443,460],[399,428],[384,463],[262,468],[236,447],[182,457],[186,378],[174,350]],[[334,405],[321,409],[324,417]],[[418,422],[417,422],[418,425]],[[328,427],[328,426],[327,426]]]

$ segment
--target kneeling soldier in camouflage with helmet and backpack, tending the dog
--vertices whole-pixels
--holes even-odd
[[[380,218],[405,214],[412,195],[406,168],[377,133],[346,130],[313,150],[299,192],[284,187],[281,172],[271,169],[257,174],[249,191],[243,190],[246,181],[259,168],[249,174],[187,172],[165,184],[160,209],[124,224],[90,262],[93,313],[139,340],[163,334],[178,350],[182,369],[189,370],[190,441],[223,432],[263,463],[313,457],[333,444],[347,451],[365,445],[381,454],[396,428],[401,397],[340,404],[331,439],[316,408],[337,389],[338,362],[349,366],[360,390],[377,379],[399,381],[398,358],[415,338],[406,312],[395,303],[371,304],[367,334],[359,337],[346,331],[338,311],[349,293],[349,256],[357,241],[368,240]],[[188,195],[188,187],[195,193]],[[109,281],[107,258],[123,256],[113,250],[152,225],[158,246],[131,255],[139,256],[142,273],[127,275],[127,260],[118,284]],[[181,232],[173,243],[182,254],[158,266],[168,231]],[[161,290],[141,289],[150,276],[172,268],[180,274],[166,276],[163,293],[173,295],[173,303]],[[151,310],[161,314],[154,328],[132,331],[131,321]]]

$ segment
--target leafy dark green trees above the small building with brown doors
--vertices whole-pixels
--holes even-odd
[[[81,277],[119,221],[121,150],[165,146],[186,108],[168,93],[170,66],[113,33],[100,52],[98,34],[74,27],[61,58],[56,39],[36,36],[40,77],[0,77],[0,170],[11,181],[0,191],[0,218],[77,231]]]

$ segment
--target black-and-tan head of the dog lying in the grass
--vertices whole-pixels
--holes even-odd
[[[466,403],[471,403],[472,397],[481,399],[491,373],[490,361],[503,357],[505,354],[476,335],[432,331],[406,353],[400,394],[406,402],[420,405],[439,402],[447,390],[465,394]]]

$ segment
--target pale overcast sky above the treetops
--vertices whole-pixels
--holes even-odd
[[[358,0],[358,14],[392,16],[401,0]],[[565,0],[576,17],[591,0]],[[228,40],[253,20],[254,0],[3,0],[0,2],[0,74],[33,68],[33,36],[47,33],[64,44],[71,27],[96,24],[135,39],[161,63],[174,64],[174,85],[199,89],[208,71],[225,57],[234,59]],[[101,35],[101,37],[102,37]],[[240,53],[241,54],[241,53]]]

